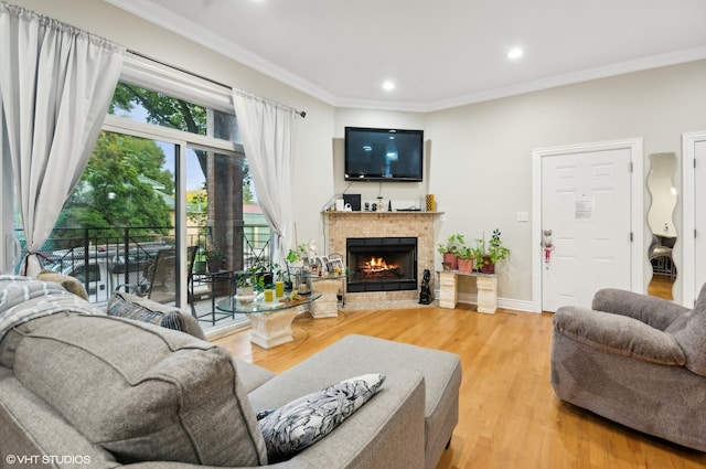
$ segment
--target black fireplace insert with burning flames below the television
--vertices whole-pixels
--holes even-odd
[[[349,237],[347,291],[417,289],[416,237]]]

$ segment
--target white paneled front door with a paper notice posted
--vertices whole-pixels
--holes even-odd
[[[539,230],[552,231],[548,257],[544,246],[536,253],[541,310],[590,308],[600,288],[635,288],[631,163],[637,151],[618,143],[535,152],[535,164],[541,166]],[[641,145],[639,154],[642,158]]]

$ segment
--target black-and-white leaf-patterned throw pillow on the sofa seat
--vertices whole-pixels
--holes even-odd
[[[333,431],[379,390],[381,373],[364,374],[257,414],[269,463],[291,458]]]

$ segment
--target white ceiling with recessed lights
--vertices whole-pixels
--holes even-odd
[[[430,111],[706,58],[705,0],[106,1],[339,107]]]

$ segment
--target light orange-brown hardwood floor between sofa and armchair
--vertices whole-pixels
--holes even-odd
[[[459,425],[439,461],[447,468],[703,468],[706,455],[559,402],[549,384],[552,315],[473,306],[344,311],[293,322],[295,341],[271,350],[249,331],[215,341],[246,361],[286,370],[349,333],[458,353],[463,364]]]

